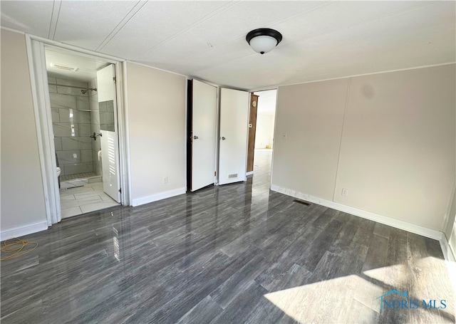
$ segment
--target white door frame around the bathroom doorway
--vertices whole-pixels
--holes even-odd
[[[130,182],[130,147],[128,139],[128,107],[126,105],[126,61],[121,58],[107,56],[93,51],[88,51],[76,46],[69,46],[46,38],[25,34],[30,72],[33,109],[35,112],[36,132],[38,136],[38,155],[41,166],[41,178],[43,181],[44,202],[48,226],[61,221],[60,193],[58,190],[56,170],[56,148],[53,135],[51,118],[51,100],[48,89],[48,74],[45,61],[45,46],[62,48],[73,51],[75,55],[86,56],[103,60],[106,63],[115,64],[116,93],[118,98],[118,137],[119,137],[119,165],[120,172],[120,203],[131,205],[131,182]]]

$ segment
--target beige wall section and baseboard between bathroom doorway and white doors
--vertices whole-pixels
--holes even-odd
[[[186,78],[128,63],[133,206],[185,193]],[[167,177],[167,184],[163,178]]]

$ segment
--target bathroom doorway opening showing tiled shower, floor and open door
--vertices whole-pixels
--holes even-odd
[[[44,50],[61,218],[117,206],[115,68],[103,59],[63,48],[44,46]],[[108,81],[106,73],[111,73]],[[103,182],[114,184],[107,188]]]

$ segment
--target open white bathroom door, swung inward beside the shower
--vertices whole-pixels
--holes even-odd
[[[100,109],[103,190],[116,202],[120,202],[119,143],[114,64],[110,64],[97,72],[97,88]]]

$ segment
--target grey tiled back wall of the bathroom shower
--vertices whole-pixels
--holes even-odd
[[[90,138],[89,93],[81,93],[88,83],[48,78],[54,142],[61,174],[93,172],[93,149]],[[98,113],[98,112],[97,112]],[[97,139],[98,142],[98,139]]]

